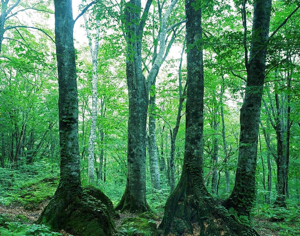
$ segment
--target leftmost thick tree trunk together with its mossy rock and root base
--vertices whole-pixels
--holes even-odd
[[[72,1],[55,0],[54,8],[61,171],[58,188],[37,223],[74,235],[113,235],[110,210],[101,207],[110,200],[97,190],[86,193],[81,187]],[[95,212],[94,208],[100,211]]]

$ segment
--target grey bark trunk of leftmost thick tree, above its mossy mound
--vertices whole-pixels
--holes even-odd
[[[70,0],[55,0],[55,40],[58,68],[60,181],[58,190],[81,192],[78,146],[78,96],[73,13]]]

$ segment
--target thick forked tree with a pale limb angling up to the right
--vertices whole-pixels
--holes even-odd
[[[158,38],[160,47],[158,53],[153,57],[152,68],[149,70],[147,79],[142,70],[142,39],[152,0],[146,2],[142,15],[140,0],[133,0],[125,5],[125,21],[122,23],[124,24],[123,34],[127,43],[126,77],[129,98],[127,184],[122,199],[116,206],[117,210],[129,210],[131,212],[149,211],[149,206],[146,202],[145,164],[149,91],[165,59],[168,30],[167,19],[177,1],[171,1],[161,18]]]

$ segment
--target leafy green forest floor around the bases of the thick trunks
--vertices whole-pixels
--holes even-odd
[[[21,175],[19,172],[12,174],[11,170],[1,168],[0,171],[0,235],[25,235],[28,230],[50,232],[45,226],[35,225],[34,222],[55,193],[59,181],[58,173],[28,175],[26,172]],[[102,185],[104,193],[116,204],[122,194],[122,186],[118,188],[121,189],[120,193],[116,194],[113,184]],[[158,192],[149,191],[147,202],[153,213],[119,213],[120,218],[114,219],[119,235],[134,235],[132,232],[145,236],[160,235],[157,227],[161,223],[168,194],[167,188]],[[299,199],[288,199],[287,203],[288,208],[256,205],[251,215],[252,226],[260,235],[300,235]],[[64,231],[60,233],[69,235]]]

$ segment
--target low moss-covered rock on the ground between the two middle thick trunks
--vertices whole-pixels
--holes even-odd
[[[156,223],[153,220],[140,218],[140,217],[130,217],[122,221],[119,229],[138,229],[141,235],[144,236],[155,236],[159,235],[158,229],[156,228]]]

